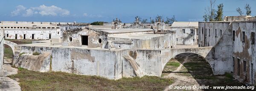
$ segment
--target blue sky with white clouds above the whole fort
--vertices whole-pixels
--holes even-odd
[[[209,0],[0,0],[0,21],[42,22],[134,22],[135,16],[143,19],[172,17],[177,21],[202,21]],[[217,0],[224,4],[224,16],[238,16],[236,8],[245,13],[249,3],[256,16],[256,0]]]

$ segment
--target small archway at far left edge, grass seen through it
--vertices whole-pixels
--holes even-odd
[[[7,44],[4,44],[4,64],[12,64],[13,62],[13,58],[14,58],[14,54],[13,54],[13,50],[12,47],[10,47]]]

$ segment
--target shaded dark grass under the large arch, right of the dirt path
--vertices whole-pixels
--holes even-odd
[[[175,60],[181,63],[184,61],[184,58],[186,58],[186,55],[189,55],[189,54],[177,55],[175,57]],[[201,56],[198,57],[198,55],[196,54],[190,55],[188,60],[189,60],[188,62],[183,64],[179,73],[175,73],[175,74],[193,78],[197,81],[199,85],[209,85],[209,86],[244,85],[242,83],[239,83],[236,80],[233,80],[232,75],[228,73],[226,73],[223,76],[213,75],[211,66]],[[210,91],[211,89],[208,89],[208,90]],[[208,90],[204,90],[204,91],[208,91]],[[222,91],[222,90],[219,90],[219,91]]]

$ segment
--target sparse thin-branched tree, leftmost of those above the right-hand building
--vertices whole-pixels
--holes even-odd
[[[205,8],[205,15],[203,16],[205,20],[209,21],[214,21],[214,18],[216,16],[215,12],[215,2],[216,0],[209,0],[210,1],[210,6]]]

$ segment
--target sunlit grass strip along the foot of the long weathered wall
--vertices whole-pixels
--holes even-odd
[[[133,77],[108,80],[97,76],[85,76],[64,72],[33,72],[19,68],[18,78],[22,91],[162,91],[173,83],[160,77]]]

